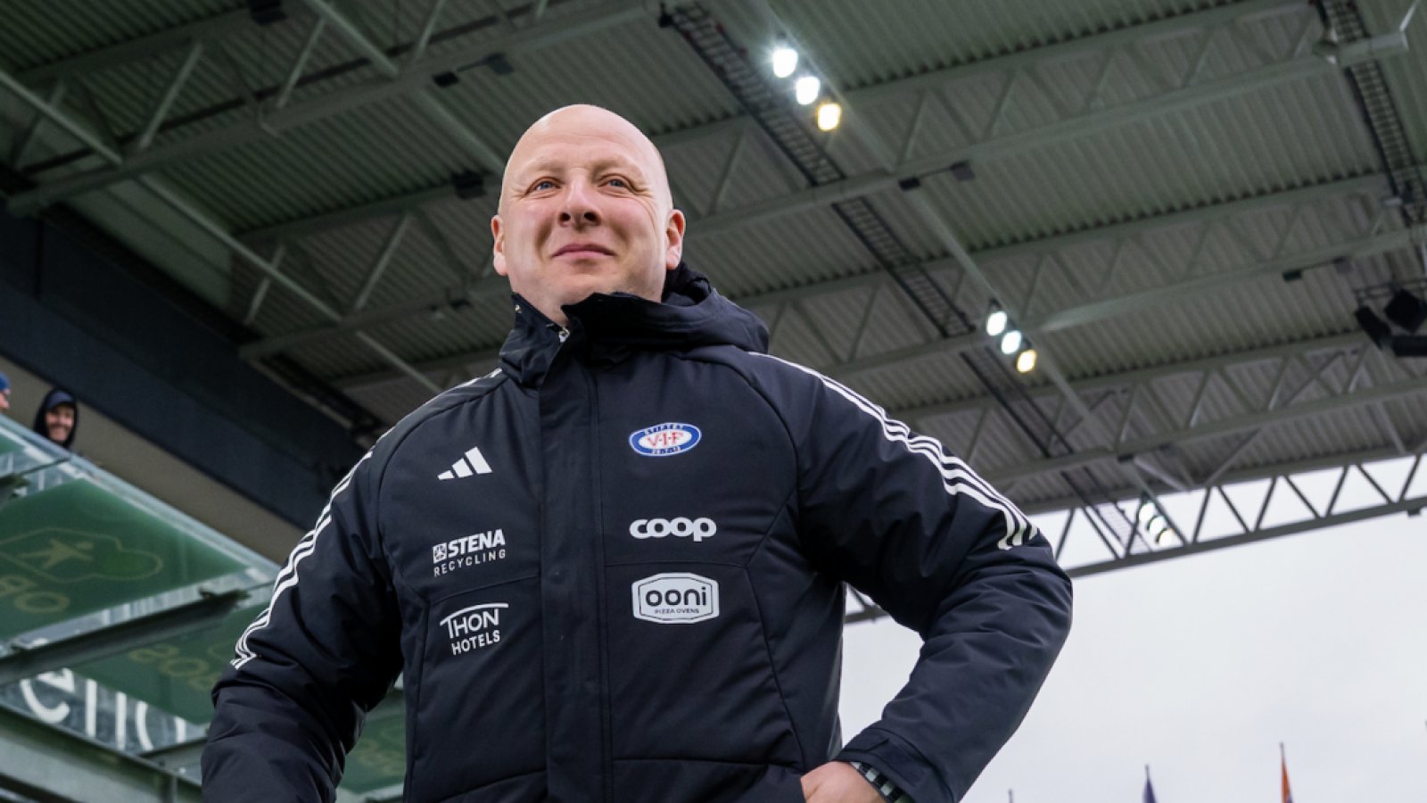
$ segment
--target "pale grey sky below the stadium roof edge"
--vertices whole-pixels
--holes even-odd
[[[1075,627],[965,803],[1427,800],[1427,519],[1404,514],[1076,582]],[[916,660],[850,627],[846,734]]]

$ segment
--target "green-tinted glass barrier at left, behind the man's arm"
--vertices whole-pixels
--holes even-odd
[[[278,567],[14,422],[0,417],[0,642],[41,644],[245,589],[221,623],[136,643],[0,687],[0,704],[113,749],[144,753],[201,739],[208,692],[238,634],[265,607]],[[405,773],[401,712],[372,717],[342,787]]]

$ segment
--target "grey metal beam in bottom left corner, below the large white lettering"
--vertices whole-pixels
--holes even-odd
[[[200,803],[198,784],[0,706],[0,787],[46,802]]]

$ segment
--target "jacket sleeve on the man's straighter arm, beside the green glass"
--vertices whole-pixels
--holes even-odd
[[[395,682],[400,622],[370,457],[332,490],[213,689],[204,800],[331,802],[365,712]]]

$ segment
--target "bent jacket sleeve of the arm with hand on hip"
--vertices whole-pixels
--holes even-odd
[[[838,759],[882,770],[916,803],[959,800],[1050,672],[1070,580],[1026,516],[939,442],[799,370],[785,422],[803,549],[925,642],[908,684]]]

